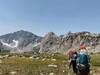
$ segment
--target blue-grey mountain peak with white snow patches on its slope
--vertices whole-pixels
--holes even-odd
[[[7,48],[11,51],[15,50],[24,52],[32,50],[32,45],[39,43],[41,41],[41,37],[31,32],[20,30],[0,36],[0,41],[3,44],[3,49]]]

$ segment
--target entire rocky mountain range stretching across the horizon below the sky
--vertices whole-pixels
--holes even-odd
[[[10,52],[65,53],[72,47],[78,49],[82,42],[91,48],[90,51],[100,52],[99,33],[69,32],[57,36],[55,33],[49,32],[41,37],[24,30],[0,36],[0,49],[9,50]]]

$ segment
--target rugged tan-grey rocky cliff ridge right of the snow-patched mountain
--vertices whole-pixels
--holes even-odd
[[[99,50],[100,36],[90,32],[68,33],[58,37],[53,32],[46,34],[42,39],[40,52],[60,52],[64,53],[69,48],[79,48],[80,43],[85,43],[91,47],[91,51],[95,48]]]

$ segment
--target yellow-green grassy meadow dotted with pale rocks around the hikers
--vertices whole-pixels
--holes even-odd
[[[29,59],[13,57],[3,59],[0,64],[0,74],[1,75],[11,75],[11,72],[16,72],[14,75],[49,75],[54,73],[54,75],[73,75],[71,70],[68,70],[67,58],[64,55],[49,55],[41,54],[40,59]],[[45,61],[43,59],[45,58]],[[56,59],[56,61],[52,60]],[[100,55],[91,56],[91,75],[93,73],[100,73]],[[48,65],[57,65],[57,67],[48,67]]]

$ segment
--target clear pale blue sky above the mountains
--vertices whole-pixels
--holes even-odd
[[[100,32],[100,0],[0,0],[0,35]]]

